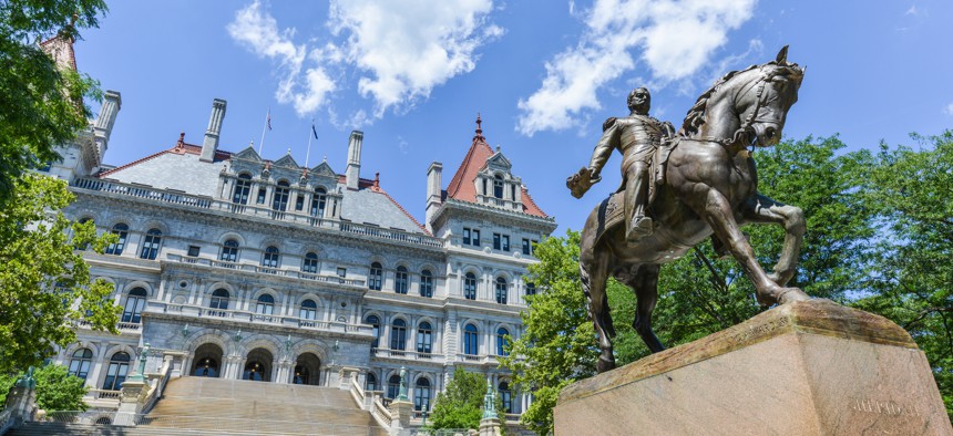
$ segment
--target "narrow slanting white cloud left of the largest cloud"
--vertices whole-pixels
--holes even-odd
[[[232,39],[256,55],[278,62],[278,74],[283,77],[275,97],[279,103],[293,104],[298,115],[314,113],[337,87],[322,68],[304,69],[307,49],[291,41],[295,30],[278,31],[277,22],[263,10],[260,2],[236,12],[227,30]]]

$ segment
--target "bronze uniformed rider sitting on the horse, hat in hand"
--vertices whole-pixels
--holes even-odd
[[[672,123],[648,116],[652,95],[645,87],[628,94],[627,117],[611,117],[603,124],[603,135],[590,160],[590,178],[600,179],[600,172],[613,148],[622,153],[622,175],[625,187],[625,239],[635,242],[652,235],[652,218],[645,215],[648,201],[648,164],[665,138],[675,136]]]

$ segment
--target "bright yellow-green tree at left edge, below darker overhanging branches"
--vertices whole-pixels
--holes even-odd
[[[0,209],[0,374],[39,366],[52,345],[75,342],[72,322],[117,333],[120,308],[104,301],[113,287],[91,282],[80,248],[102,252],[115,236],[98,237],[92,221],[60,210],[73,200],[63,180],[24,173]]]

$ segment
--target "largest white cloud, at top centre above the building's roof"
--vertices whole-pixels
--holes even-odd
[[[503,33],[488,22],[490,0],[332,1],[330,23],[347,34],[347,62],[368,73],[358,92],[380,117],[476,65],[475,50]]]

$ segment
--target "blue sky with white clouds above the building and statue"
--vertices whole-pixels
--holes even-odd
[[[535,201],[565,228],[618,183],[619,156],[582,200],[565,178],[588,162],[607,116],[647,85],[652,114],[682,123],[729,70],[773,59],[807,65],[785,136],[840,134],[850,149],[910,144],[953,126],[953,2],[511,1],[117,2],[76,44],[82,72],[123,105],[106,163],[201,144],[213,98],[228,108],[219,148],[273,129],[263,155],[306,159],[311,118],[345,169],[351,129],[365,132],[361,176],[422,221],[427,168],[444,187],[482,114]],[[96,107],[94,107],[96,108]],[[757,155],[756,155],[757,158]],[[783,199],[779,199],[782,200]],[[810,210],[807,211],[810,214]]]

